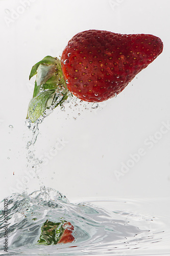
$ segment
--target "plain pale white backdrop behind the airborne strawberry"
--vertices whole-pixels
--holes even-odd
[[[0,14],[1,199],[12,190],[22,193],[28,187],[31,193],[42,184],[68,199],[169,197],[170,130],[160,134],[162,122],[170,122],[169,1],[1,0]],[[46,55],[59,57],[72,36],[88,29],[153,34],[162,39],[163,53],[116,98],[101,104],[102,110],[85,103],[89,110],[82,107],[80,116],[76,107],[66,106],[65,112],[58,108],[45,118],[34,150],[46,164],[41,164],[39,179],[35,175],[25,184],[31,68]],[[152,148],[150,136],[160,138]],[[52,157],[58,139],[68,143]],[[123,164],[140,148],[145,154],[123,174]],[[116,177],[116,170],[123,176]]]

